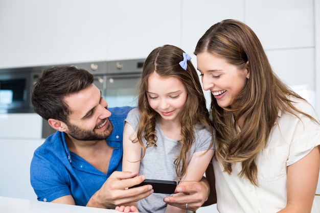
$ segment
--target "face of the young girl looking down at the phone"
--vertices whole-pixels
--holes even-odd
[[[177,78],[163,78],[153,72],[148,78],[147,96],[150,107],[163,120],[175,122],[187,101],[187,89]]]

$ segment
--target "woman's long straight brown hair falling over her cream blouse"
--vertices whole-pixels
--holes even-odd
[[[217,130],[216,159],[229,174],[232,164],[241,162],[239,175],[257,185],[255,159],[267,145],[278,111],[299,112],[314,119],[292,105],[290,96],[304,99],[273,73],[258,37],[244,23],[227,19],[213,25],[198,41],[194,54],[202,52],[222,57],[241,69],[249,62],[250,79],[235,98],[233,108],[221,108],[211,94],[211,110]],[[239,120],[243,124],[241,132],[236,128]]]

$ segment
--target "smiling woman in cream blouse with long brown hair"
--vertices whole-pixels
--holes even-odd
[[[273,73],[256,34],[223,20],[204,33],[195,55],[212,93],[219,212],[318,212],[317,115]]]

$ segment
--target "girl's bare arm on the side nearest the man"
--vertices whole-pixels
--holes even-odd
[[[141,158],[141,145],[139,142],[132,143],[132,140],[136,138],[136,133],[131,125],[125,122],[123,129],[123,157],[122,157],[122,171],[125,172],[138,172],[140,168]],[[125,206],[117,206],[117,210],[123,212],[138,211],[138,204],[128,203]]]

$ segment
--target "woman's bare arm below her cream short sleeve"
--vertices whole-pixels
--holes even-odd
[[[318,182],[320,146],[288,166],[287,206],[279,213],[310,212]]]

